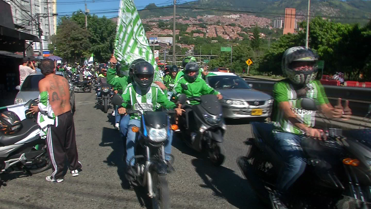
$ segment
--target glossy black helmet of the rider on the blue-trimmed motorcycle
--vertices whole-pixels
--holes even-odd
[[[155,70],[151,63],[147,61],[137,62],[133,67],[133,80],[142,91],[147,91],[151,87]],[[149,75],[148,80],[140,80],[139,75]]]

